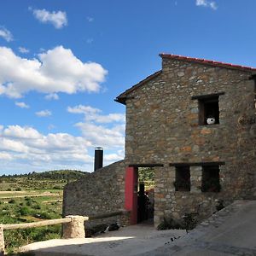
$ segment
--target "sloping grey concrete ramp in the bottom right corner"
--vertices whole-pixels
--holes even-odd
[[[256,255],[256,201],[236,201],[188,236],[142,256]]]

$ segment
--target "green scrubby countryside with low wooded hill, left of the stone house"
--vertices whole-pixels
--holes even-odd
[[[64,185],[85,176],[84,172],[53,171],[0,177],[0,224],[61,218]],[[61,224],[4,231],[8,253],[34,241],[60,237]]]

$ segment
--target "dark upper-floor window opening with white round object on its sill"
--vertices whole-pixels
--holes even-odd
[[[218,96],[199,99],[199,124],[219,124]]]

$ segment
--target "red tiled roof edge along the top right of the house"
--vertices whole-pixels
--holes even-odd
[[[160,57],[179,60],[179,61],[191,61],[191,62],[207,64],[215,67],[228,67],[228,68],[236,68],[236,69],[242,69],[242,70],[248,70],[248,71],[256,71],[256,67],[246,67],[246,66],[234,65],[234,64],[220,62],[220,61],[209,61],[205,59],[185,57],[182,55],[170,55],[170,54],[162,53],[160,54]]]

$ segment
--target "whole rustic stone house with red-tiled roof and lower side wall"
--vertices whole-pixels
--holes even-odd
[[[145,166],[154,168],[155,225],[256,198],[256,68],[160,57],[160,71],[115,100],[126,107],[125,160],[67,184],[63,214],[125,208],[130,215],[119,221],[136,224],[137,170]]]

